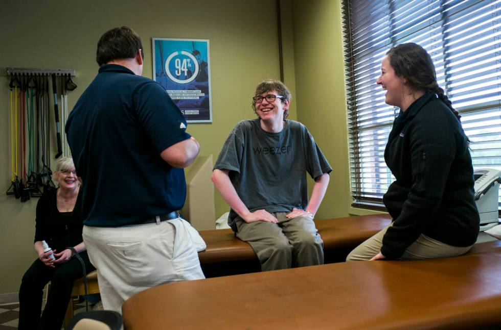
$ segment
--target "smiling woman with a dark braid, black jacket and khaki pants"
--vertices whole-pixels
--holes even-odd
[[[431,57],[415,43],[395,46],[382,60],[377,84],[386,90],[385,103],[400,108],[384,150],[396,179],[383,196],[393,220],[347,261],[466,253],[480,224],[469,141]]]

